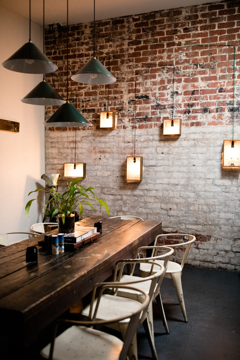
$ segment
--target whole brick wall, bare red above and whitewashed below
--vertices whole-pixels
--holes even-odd
[[[96,33],[132,40],[97,37],[96,49],[135,62],[175,65],[173,117],[182,119],[182,135],[163,137],[162,121],[172,116],[173,67],[129,63],[110,57],[110,72],[119,81],[109,85],[109,110],[117,109],[117,130],[101,131],[100,111],[107,108],[107,85],[70,81],[78,89],[78,110],[93,126],[77,129],[76,161],[87,163],[83,184],[93,185],[112,216],[134,214],[163,221],[165,231],[197,235],[188,262],[195,266],[239,269],[239,172],[221,168],[222,144],[231,139],[233,111],[233,48],[171,46],[139,40],[235,45],[235,138],[239,138],[239,1],[189,6],[98,21]],[[92,23],[72,25],[70,46],[86,63],[93,54]],[[62,32],[65,37],[65,33]],[[54,35],[66,61],[66,43]],[[82,45],[83,42],[86,45]],[[56,89],[66,98],[66,67],[53,34],[52,59]],[[46,54],[50,57],[49,31]],[[96,51],[102,62],[106,55]],[[104,60],[108,67],[108,57]],[[82,64],[69,51],[69,68]],[[46,76],[52,84],[51,74]],[[126,156],[133,152],[136,101],[136,155],[144,156],[141,184],[124,181]],[[76,105],[76,91],[70,101]],[[46,107],[46,119],[58,107]],[[63,175],[63,163],[74,161],[74,129],[46,129],[46,172]],[[60,181],[60,189],[65,181]],[[103,212],[104,213],[104,212]],[[85,215],[92,215],[86,210]]]

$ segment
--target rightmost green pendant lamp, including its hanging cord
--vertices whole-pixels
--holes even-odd
[[[95,0],[94,0],[94,35],[93,35],[93,56],[94,58],[84,65],[71,78],[82,84],[112,84],[117,79],[114,77],[99,60],[95,58]]]

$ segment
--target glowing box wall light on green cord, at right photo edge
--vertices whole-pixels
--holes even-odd
[[[222,167],[240,169],[240,140],[223,141]]]

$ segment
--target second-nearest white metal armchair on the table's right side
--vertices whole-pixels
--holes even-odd
[[[169,248],[168,248],[169,249]],[[170,248],[170,251],[173,252],[173,250]],[[172,253],[171,252],[171,253]],[[170,255],[169,255],[170,256]],[[144,259],[145,260],[145,259]],[[120,273],[122,274],[122,270],[124,265],[126,264],[132,264],[135,265],[136,263],[139,263],[141,261],[144,261],[142,259],[131,259],[131,260],[124,260],[122,261],[122,266],[120,269]],[[114,275],[114,279],[116,279],[116,273],[118,271],[118,264],[117,263],[117,267],[115,269],[115,275]],[[154,265],[154,262],[151,261],[151,264]],[[158,264],[160,265],[160,264]],[[133,269],[134,270],[134,269]],[[124,312],[127,311],[127,309],[134,309],[134,304],[137,301],[141,301],[142,302],[142,292],[146,292],[149,294],[150,297],[150,309],[151,309],[151,300],[153,298],[154,292],[156,290],[156,287],[158,287],[159,284],[159,280],[160,278],[162,279],[163,276],[162,274],[164,273],[165,269],[164,266],[161,265],[159,267],[159,271],[153,275],[148,276],[147,278],[145,278],[145,282],[142,281],[142,278],[136,277],[136,276],[131,276],[130,279],[128,279],[127,282],[122,281],[121,282],[121,287],[122,285],[130,285],[132,286],[132,290],[126,290],[122,289],[119,290],[119,288],[116,288],[116,291],[113,294],[105,294],[102,297],[102,302],[100,303],[100,307],[98,309],[98,319],[100,320],[107,320],[109,318],[109,316],[111,314],[115,314],[115,315],[122,315],[124,314]],[[120,274],[119,274],[120,275]],[[155,275],[155,276],[154,276]],[[162,277],[161,277],[162,276]],[[120,278],[121,279],[121,275]],[[115,282],[114,282],[115,283]],[[144,284],[143,284],[144,283]],[[116,284],[120,284],[120,282],[116,282]],[[134,285],[133,285],[134,284]],[[160,287],[160,285],[159,285]],[[139,292],[139,289],[141,290]],[[131,296],[129,296],[129,293],[131,293]],[[95,293],[96,293],[96,287],[94,287],[93,289],[93,293],[92,293],[92,300],[91,303],[85,307],[85,309],[82,310],[81,314],[85,317],[90,317],[91,318],[91,314],[93,309],[96,306],[96,300],[95,299]],[[132,294],[135,293],[135,296],[132,296]],[[121,296],[119,296],[119,294]],[[132,298],[131,298],[132,297]],[[149,319],[151,319],[151,314],[149,316],[149,310],[147,312],[145,312],[145,314],[142,314],[141,319],[140,319],[140,324],[143,323],[144,325],[144,329],[149,341],[149,345],[151,348],[151,352],[154,356],[154,358],[157,360],[157,352],[155,350],[155,345],[154,345],[154,336],[153,336],[153,331],[151,330],[151,327],[153,326],[152,322],[149,321]],[[122,337],[124,338],[126,336],[126,330],[127,330],[127,321],[125,320],[124,322],[119,321],[113,324],[108,325],[108,327],[113,328],[114,330],[117,330],[119,332],[122,333]],[[133,338],[132,341],[132,345],[129,349],[128,352],[129,358],[132,359],[132,356],[137,360],[137,337],[136,334]]]

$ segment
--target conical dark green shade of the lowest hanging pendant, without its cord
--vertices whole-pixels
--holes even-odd
[[[82,114],[68,101],[44,123],[45,126],[73,127],[91,126]]]

